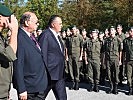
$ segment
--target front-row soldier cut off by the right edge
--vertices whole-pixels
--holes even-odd
[[[129,95],[133,94],[133,27],[129,29],[129,37],[123,42],[123,51],[126,55],[127,82],[129,86]]]

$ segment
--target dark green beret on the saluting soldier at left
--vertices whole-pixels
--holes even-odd
[[[12,15],[12,12],[8,7],[0,4],[0,15],[5,16],[5,17],[9,17]]]

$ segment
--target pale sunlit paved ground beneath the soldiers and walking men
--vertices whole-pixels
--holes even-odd
[[[126,93],[128,92],[128,87],[126,85],[124,87],[118,87],[118,95],[107,94],[106,91],[109,89],[107,84],[106,87],[100,86],[99,93],[88,92],[86,89],[89,87],[89,85],[86,83],[80,83],[80,89],[78,91],[68,89],[71,83],[67,83],[66,85],[68,100],[133,100],[133,95],[126,95]],[[17,100],[15,89],[11,89],[11,98],[12,100]],[[55,100],[52,91],[50,91],[46,100]]]

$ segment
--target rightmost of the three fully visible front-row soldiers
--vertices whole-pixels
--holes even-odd
[[[120,53],[122,52],[122,43],[115,35],[114,26],[109,29],[110,37],[105,41],[105,57],[107,63],[108,79],[111,85],[108,93],[118,94],[117,85],[119,83],[119,63],[121,63]]]

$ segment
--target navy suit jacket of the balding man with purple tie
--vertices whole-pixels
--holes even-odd
[[[19,93],[42,92],[47,87],[42,53],[21,28],[18,31],[17,60],[14,62],[13,74],[13,85]]]

